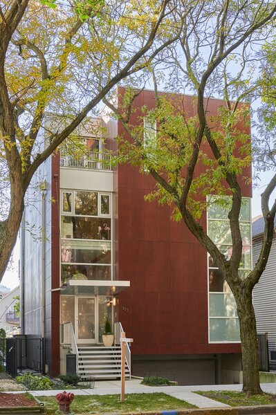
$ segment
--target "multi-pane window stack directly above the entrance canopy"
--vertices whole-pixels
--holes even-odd
[[[62,190],[62,284],[111,277],[111,194]]]

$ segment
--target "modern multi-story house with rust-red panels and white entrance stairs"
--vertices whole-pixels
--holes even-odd
[[[210,99],[210,113],[221,104]],[[134,123],[141,122],[145,105],[154,105],[153,91],[134,101]],[[185,97],[185,105],[192,115],[193,98]],[[118,339],[125,331],[134,338],[131,358],[127,353],[134,375],[167,376],[182,385],[239,381],[237,310],[219,270],[185,225],[170,219],[168,206],[145,201],[155,185],[149,174],[130,165],[111,167],[110,151],[124,133],[120,122],[108,116],[90,122],[90,132],[75,131],[82,151],[76,154],[73,144],[48,158],[28,192],[21,228],[22,332],[45,338],[52,375],[66,371],[71,349],[83,376],[118,377]],[[251,187],[241,186],[246,273]],[[210,210],[203,226],[229,254],[227,214]],[[102,344],[107,317],[116,334],[110,348]]]

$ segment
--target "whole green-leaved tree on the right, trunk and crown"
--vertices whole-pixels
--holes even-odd
[[[185,6],[181,3],[180,10]],[[180,10],[175,10],[177,24]],[[144,141],[141,125],[131,124],[131,104],[140,91],[127,91],[122,109],[106,103],[122,122],[127,140],[120,138],[120,161],[140,165],[140,172],[151,174],[156,190],[147,199],[174,206],[174,219],[187,228],[216,262],[230,286],[239,315],[243,365],[243,391],[261,393],[259,359],[252,289],[264,271],[273,239],[276,203],[269,206],[275,178],[261,196],[265,228],[261,253],[255,267],[245,277],[239,273],[243,236],[239,223],[242,206],[241,180],[250,181],[250,107],[243,103],[257,90],[251,83],[257,66],[253,44],[270,33],[275,21],[273,1],[198,1],[185,19],[179,42],[167,49],[171,62],[166,77],[168,91],[192,92],[189,104],[181,95],[160,95],[157,84],[163,75],[156,69],[154,85],[156,107],[144,109],[144,116],[156,122],[156,138]],[[261,40],[261,42],[263,42]],[[210,115],[210,97],[224,98],[217,114]],[[151,123],[153,124],[153,123]],[[232,255],[225,257],[202,225],[208,194],[221,196],[228,209]],[[201,197],[199,197],[201,195]],[[230,204],[225,196],[230,195]]]

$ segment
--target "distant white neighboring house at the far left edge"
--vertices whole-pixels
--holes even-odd
[[[18,302],[14,297],[17,295],[19,295],[19,286],[0,299],[0,329],[4,329],[6,335],[12,334],[19,326],[19,317],[14,311],[14,306]]]

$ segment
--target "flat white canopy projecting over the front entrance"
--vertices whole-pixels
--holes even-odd
[[[64,295],[115,295],[130,286],[130,281],[67,280],[60,288]]]

